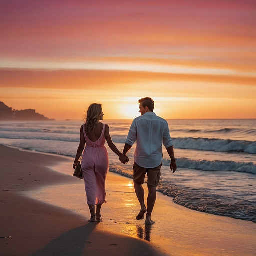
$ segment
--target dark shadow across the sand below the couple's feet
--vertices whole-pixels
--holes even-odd
[[[97,230],[100,229],[97,225],[96,222],[88,222],[65,232],[31,256],[166,255],[144,240]]]

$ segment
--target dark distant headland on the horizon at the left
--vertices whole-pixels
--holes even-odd
[[[0,121],[46,121],[49,119],[42,114],[36,113],[34,109],[12,110],[0,101]]]

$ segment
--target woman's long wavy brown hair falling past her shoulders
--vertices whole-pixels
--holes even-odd
[[[84,129],[86,132],[90,133],[92,130],[95,129],[97,123],[98,123],[98,117],[102,113],[102,104],[91,104],[86,112],[86,115],[84,117]]]

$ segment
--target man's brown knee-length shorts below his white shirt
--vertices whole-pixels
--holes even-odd
[[[147,173],[147,186],[157,186],[161,176],[161,166],[155,168],[143,168],[137,165],[136,162],[133,163],[133,182],[144,184],[145,175]]]

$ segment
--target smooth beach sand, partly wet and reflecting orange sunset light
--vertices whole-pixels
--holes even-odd
[[[136,220],[132,180],[108,172],[102,222],[88,222],[73,159],[0,145],[0,255],[256,255],[256,223],[193,211],[157,193]],[[145,187],[146,191],[146,187]]]

